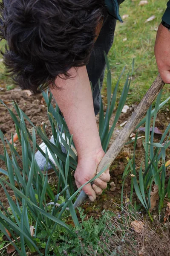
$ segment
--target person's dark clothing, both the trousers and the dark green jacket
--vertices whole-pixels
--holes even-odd
[[[92,51],[89,63],[86,66],[89,80],[92,82],[95,115],[97,115],[100,108],[98,79],[100,78],[102,86],[105,70],[104,51],[108,54],[112,47],[116,20],[122,21],[118,13],[118,5],[122,2],[124,2],[124,0],[105,0],[109,15],[105,15],[104,25],[97,41],[95,42],[95,47]],[[166,23],[170,24],[170,1],[167,3],[167,9],[162,19]]]

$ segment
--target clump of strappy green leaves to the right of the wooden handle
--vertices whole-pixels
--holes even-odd
[[[154,185],[156,185],[155,189],[158,190],[158,198],[159,198],[159,213],[164,205],[164,198],[167,194],[168,198],[170,198],[170,178],[168,178],[168,182],[166,185],[166,177],[168,174],[167,167],[170,166],[169,162],[165,163],[166,157],[166,149],[170,145],[169,137],[170,137],[170,124],[167,126],[164,134],[161,136],[161,140],[159,143],[154,143],[154,128],[156,122],[156,116],[158,110],[160,109],[162,91],[159,93],[154,111],[152,110],[152,105],[147,111],[147,116],[145,117],[145,140],[143,140],[143,147],[145,151],[145,159],[144,163],[141,163],[139,172],[136,171],[136,162],[135,162],[135,148],[137,143],[138,132],[136,134],[134,140],[134,152],[133,158],[128,159],[128,164],[124,170],[123,174],[123,186],[122,186],[122,195],[121,201],[123,201],[123,189],[124,182],[128,175],[131,174],[131,193],[130,193],[130,201],[132,202],[133,197],[133,188],[136,192],[138,199],[141,204],[147,210],[150,215],[150,212],[153,209],[153,204],[151,202],[152,189]],[[169,100],[169,98],[167,99]],[[166,101],[167,101],[166,100]],[[164,103],[164,102],[163,102]],[[150,134],[150,126],[151,120],[153,116],[153,124],[152,124],[152,132]],[[143,123],[143,121],[137,126]],[[152,219],[151,215],[150,218]]]

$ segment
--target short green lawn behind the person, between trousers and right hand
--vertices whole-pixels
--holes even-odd
[[[154,56],[155,29],[161,23],[167,3],[167,1],[148,0],[148,4],[138,6],[139,2],[140,0],[125,0],[120,5],[121,17],[123,15],[129,15],[129,17],[123,19],[124,23],[117,22],[114,44],[109,52],[112,86],[118,80],[124,65],[127,65],[127,70],[129,70],[132,59],[135,58],[133,80],[127,98],[129,105],[141,101],[158,74]],[[145,23],[145,20],[152,15],[156,18]],[[123,41],[124,38],[127,38],[127,41]],[[123,81],[121,84],[123,86]],[[120,86],[119,90],[121,88]],[[170,89],[165,85],[162,99],[166,99],[169,93]]]

